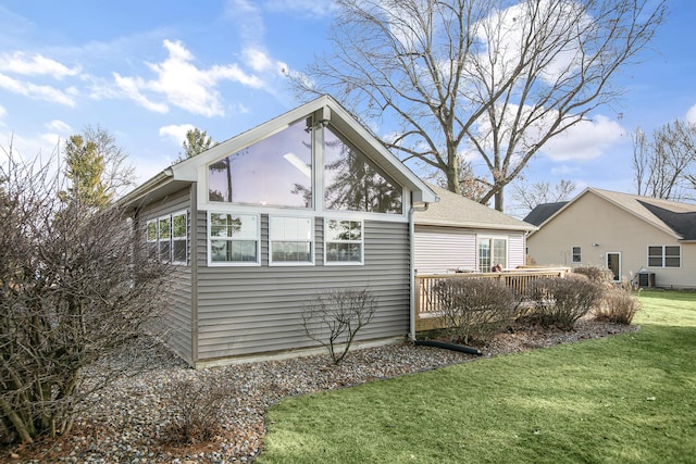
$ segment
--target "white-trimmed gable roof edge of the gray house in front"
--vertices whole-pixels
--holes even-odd
[[[229,153],[249,147],[310,115],[314,115],[316,121],[323,125],[331,124],[333,128],[343,134],[394,180],[409,188],[413,192],[413,201],[425,203],[437,201],[437,197],[430,187],[375,139],[346,109],[332,97],[322,96],[217,143],[196,156],[169,166],[126,193],[119,202],[127,205],[127,208],[135,209],[150,201],[164,198],[174,191],[181,190],[186,185],[197,181],[201,166],[207,166]]]

